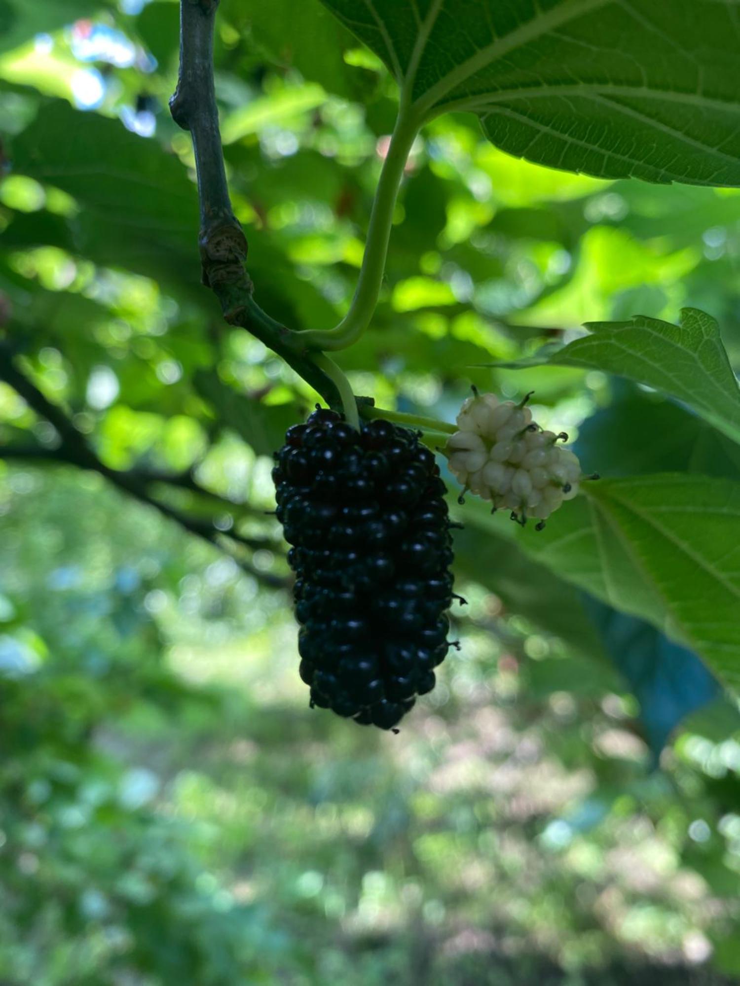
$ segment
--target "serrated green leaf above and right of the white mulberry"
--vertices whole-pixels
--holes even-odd
[[[629,321],[587,322],[586,328],[591,335],[515,366],[548,363],[628,377],[683,401],[740,442],[740,389],[714,318],[683,309],[679,325],[640,315]]]

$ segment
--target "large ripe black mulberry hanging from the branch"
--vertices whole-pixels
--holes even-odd
[[[300,674],[311,704],[391,729],[447,655],[452,545],[439,467],[414,432],[357,432],[317,409],[272,470],[292,544]]]

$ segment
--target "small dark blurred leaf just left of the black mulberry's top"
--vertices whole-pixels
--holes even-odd
[[[215,370],[196,371],[192,383],[220,422],[233,428],[258,456],[271,456],[279,449],[285,431],[299,418],[294,404],[262,404],[229,387]]]

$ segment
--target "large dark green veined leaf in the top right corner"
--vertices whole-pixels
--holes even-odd
[[[388,65],[411,112],[479,114],[538,164],[740,183],[733,0],[324,0]]]

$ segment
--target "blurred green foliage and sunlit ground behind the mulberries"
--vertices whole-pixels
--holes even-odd
[[[0,982],[737,982],[736,704],[475,504],[461,650],[401,734],[308,708],[265,512],[315,394],[199,285],[177,51],[169,0],[0,0]],[[222,0],[216,89],[256,297],[330,327],[394,84],[318,0]],[[537,168],[464,115],[407,173],[356,392],[534,388],[587,469],[736,472],[653,393],[484,365],[683,304],[740,359],[737,191]]]

